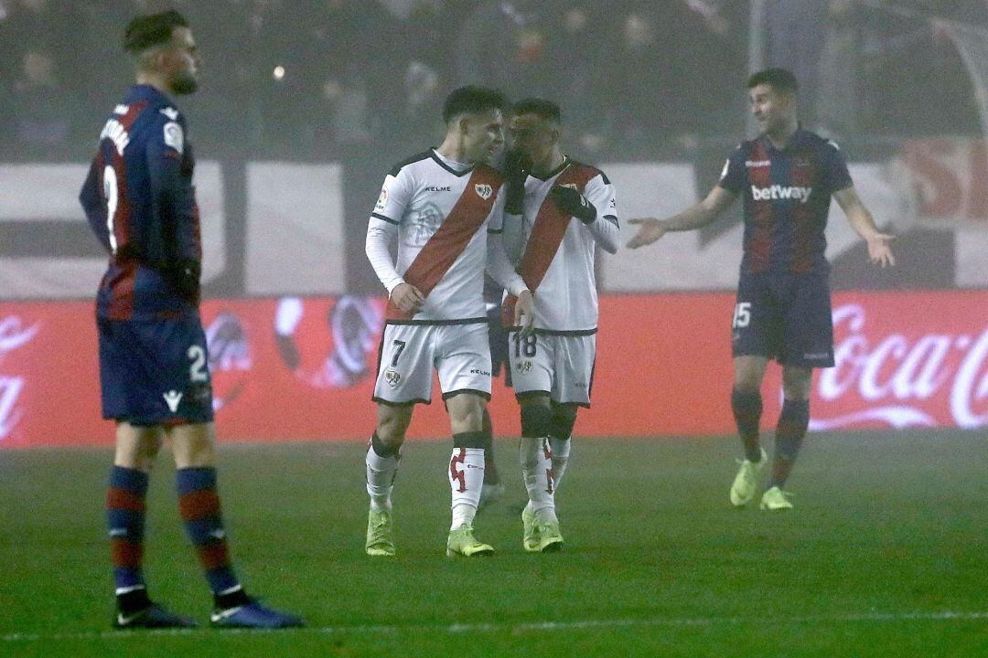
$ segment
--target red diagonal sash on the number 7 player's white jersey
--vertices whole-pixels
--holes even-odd
[[[501,177],[494,170],[484,166],[473,170],[450,214],[402,276],[406,283],[418,288],[425,297],[429,296],[483,226],[494,207],[500,187]],[[412,316],[388,301],[384,317],[387,320],[409,320]]]

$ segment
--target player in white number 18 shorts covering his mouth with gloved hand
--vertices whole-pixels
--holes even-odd
[[[521,406],[519,459],[529,493],[523,546],[562,548],[555,512],[580,406],[590,406],[597,353],[597,248],[617,252],[614,185],[559,146],[559,107],[521,101],[510,122],[515,149],[505,164],[505,243],[535,294],[535,330],[510,331],[509,357]],[[508,297],[506,308],[514,300]],[[510,320],[506,318],[505,320]]]

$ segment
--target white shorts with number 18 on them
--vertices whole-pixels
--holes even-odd
[[[590,406],[597,356],[597,332],[547,333],[525,338],[508,334],[511,381],[515,395],[541,391],[553,402]]]

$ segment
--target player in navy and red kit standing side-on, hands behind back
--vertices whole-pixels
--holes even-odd
[[[144,583],[144,499],[162,440],[175,456],[179,511],[206,571],[213,625],[277,628],[301,620],[247,596],[227,551],[216,491],[206,335],[199,317],[199,208],[186,121],[200,59],[177,12],[141,16],[124,49],[137,80],[107,119],[79,199],[110,256],[97,294],[103,415],[117,421],[107,494],[119,628],[191,626]]]

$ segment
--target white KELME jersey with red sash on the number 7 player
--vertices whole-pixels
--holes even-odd
[[[388,304],[391,323],[485,319],[487,232],[499,231],[501,176],[485,165],[463,168],[430,150],[396,166],[384,180],[368,225],[368,255],[388,292],[401,282],[425,305],[414,317]],[[373,256],[372,241],[398,234],[397,263]]]

